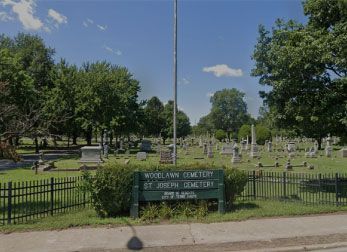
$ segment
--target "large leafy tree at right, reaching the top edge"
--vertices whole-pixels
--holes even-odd
[[[259,27],[252,58],[253,76],[275,126],[321,140],[328,133],[346,135],[347,4],[304,2],[307,25],[277,20],[272,32]]]

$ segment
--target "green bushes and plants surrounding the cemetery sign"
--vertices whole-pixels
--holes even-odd
[[[102,217],[119,216],[128,213],[131,204],[131,192],[133,185],[133,172],[139,167],[131,165],[108,164],[97,170],[96,175],[92,177],[90,173],[84,173],[83,189],[90,191],[92,204],[96,212]],[[156,170],[195,170],[195,169],[215,169],[213,165],[191,164],[175,166],[161,166]],[[142,167],[141,170],[153,170],[151,167]],[[246,179],[246,180],[244,180]],[[236,195],[239,195],[247,182],[245,173],[238,170],[225,169],[225,190],[228,205],[232,205]],[[145,219],[155,219],[158,216],[172,216],[183,214],[191,216],[199,213],[203,216],[207,210],[205,203],[196,205],[191,203],[177,202],[177,204],[161,205],[150,203],[148,208],[141,210],[145,214]],[[194,205],[194,207],[192,207]]]

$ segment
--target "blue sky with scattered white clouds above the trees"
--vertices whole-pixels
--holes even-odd
[[[277,18],[305,23],[296,0],[178,0],[178,107],[192,125],[224,88],[245,93],[257,117],[262,99],[251,59],[258,26]],[[0,0],[0,33],[27,32],[55,48],[70,64],[106,60],[140,81],[140,100],[173,99],[172,0]]]

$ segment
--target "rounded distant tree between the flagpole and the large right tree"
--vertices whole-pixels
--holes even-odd
[[[247,104],[243,100],[245,94],[235,88],[217,91],[211,97],[211,120],[216,129],[222,129],[230,135],[236,133],[245,121]]]

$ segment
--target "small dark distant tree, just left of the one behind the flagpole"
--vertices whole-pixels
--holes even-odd
[[[144,108],[145,125],[144,129],[147,135],[159,136],[165,127],[165,118],[163,115],[164,105],[158,97],[154,96],[147,101]]]

